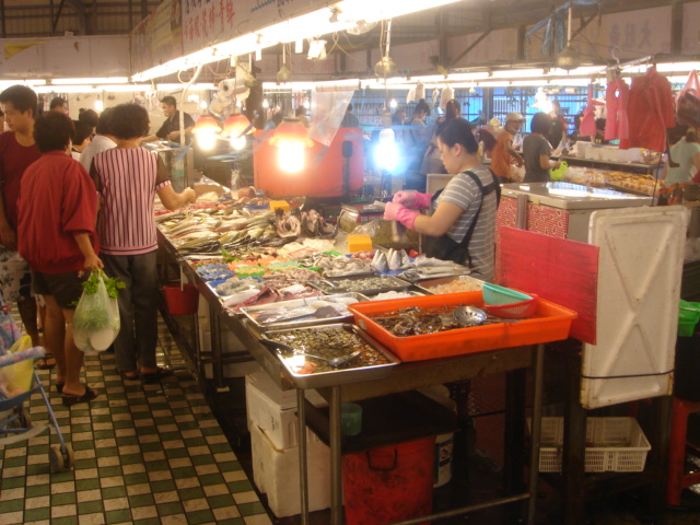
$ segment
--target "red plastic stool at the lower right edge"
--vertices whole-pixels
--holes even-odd
[[[668,505],[680,505],[682,489],[700,483],[700,471],[685,474],[688,417],[693,412],[700,412],[700,401],[687,401],[674,397],[668,447],[668,479],[666,482],[666,503]]]

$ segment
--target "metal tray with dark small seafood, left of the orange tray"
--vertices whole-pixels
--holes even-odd
[[[272,351],[301,388],[381,380],[399,363],[355,325],[268,330],[260,343]]]

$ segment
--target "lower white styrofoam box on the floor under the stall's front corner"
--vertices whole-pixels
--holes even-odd
[[[253,481],[267,494],[268,505],[277,517],[301,512],[299,447],[277,450],[268,435],[254,424],[250,428]],[[308,472],[308,510],[330,506],[330,450],[322,442],[306,445]]]

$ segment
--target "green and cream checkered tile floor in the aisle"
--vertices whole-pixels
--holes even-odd
[[[39,371],[75,466],[49,474],[52,428],[50,436],[0,447],[1,524],[271,524],[161,327],[159,362],[176,370],[161,384],[122,381],[112,353],[86,355],[85,380],[100,397],[67,408],[50,371]],[[48,423],[39,395],[25,407],[35,423]]]

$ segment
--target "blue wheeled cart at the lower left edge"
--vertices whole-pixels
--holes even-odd
[[[12,345],[21,337],[22,332],[14,323],[12,315],[8,312],[4,302],[0,299],[0,369],[28,359],[43,358],[46,354],[46,350],[43,347],[10,352]],[[42,394],[44,404],[48,409],[50,422],[58,434],[59,444],[50,445],[48,451],[50,470],[51,472],[69,470],[74,464],[73,448],[63,441],[63,435],[44,390],[44,385],[35,370],[32,371],[32,385],[27,392],[12,397],[0,392],[0,446],[28,440],[48,429],[47,424],[32,423],[30,413],[24,408],[24,401],[36,392]]]

